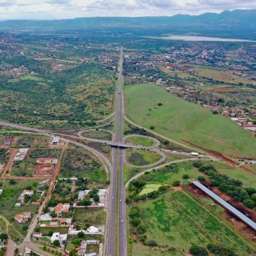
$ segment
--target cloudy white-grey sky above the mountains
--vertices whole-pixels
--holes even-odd
[[[0,19],[162,16],[256,9],[256,0],[0,0]]]

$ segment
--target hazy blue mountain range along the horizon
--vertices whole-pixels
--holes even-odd
[[[6,20],[0,30],[13,33],[40,31],[110,31],[134,35],[194,34],[256,39],[256,10],[234,10],[172,17],[86,17],[63,20]]]

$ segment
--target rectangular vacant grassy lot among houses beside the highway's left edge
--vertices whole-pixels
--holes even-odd
[[[106,224],[106,210],[104,208],[77,208],[73,222],[80,228],[87,228],[90,225],[104,226]]]

